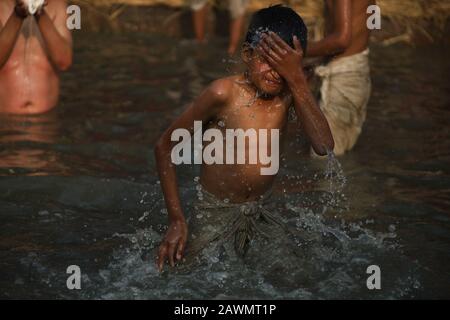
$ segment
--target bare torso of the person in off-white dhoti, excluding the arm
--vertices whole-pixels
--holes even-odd
[[[352,40],[350,46],[344,52],[333,56],[333,59],[351,56],[367,49],[370,35],[370,30],[367,28],[367,7],[373,4],[375,4],[374,0],[351,1]],[[327,0],[326,2],[325,20],[327,21],[327,33],[332,33],[335,29],[333,16],[335,10],[337,10],[336,5],[334,0]]]

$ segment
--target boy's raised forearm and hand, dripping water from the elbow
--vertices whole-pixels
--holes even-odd
[[[263,36],[258,50],[270,66],[280,74],[291,90],[295,112],[302,121],[314,151],[326,155],[334,148],[334,140],[328,122],[308,87],[302,69],[303,51],[299,40],[294,37],[292,49],[273,32]]]

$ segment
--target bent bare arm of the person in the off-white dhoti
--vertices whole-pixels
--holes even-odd
[[[324,39],[308,44],[308,57],[332,56],[347,49],[352,40],[351,0],[335,0],[333,10],[333,31]]]

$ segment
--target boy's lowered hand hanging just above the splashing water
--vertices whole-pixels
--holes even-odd
[[[169,224],[164,240],[159,246],[157,265],[161,272],[166,259],[172,267],[175,266],[175,260],[181,260],[187,241],[187,225],[185,221],[175,221]]]

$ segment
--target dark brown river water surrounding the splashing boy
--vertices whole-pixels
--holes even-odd
[[[154,143],[238,64],[221,40],[80,34],[75,44],[58,108],[0,119],[1,298],[450,298],[449,48],[372,48],[368,118],[339,158],[343,173],[290,135],[274,203],[306,245],[256,243],[244,260],[213,246],[196,268],[159,274],[167,215]],[[199,170],[178,172],[190,216]],[[81,290],[66,286],[70,265]],[[380,290],[366,286],[370,265]]]

